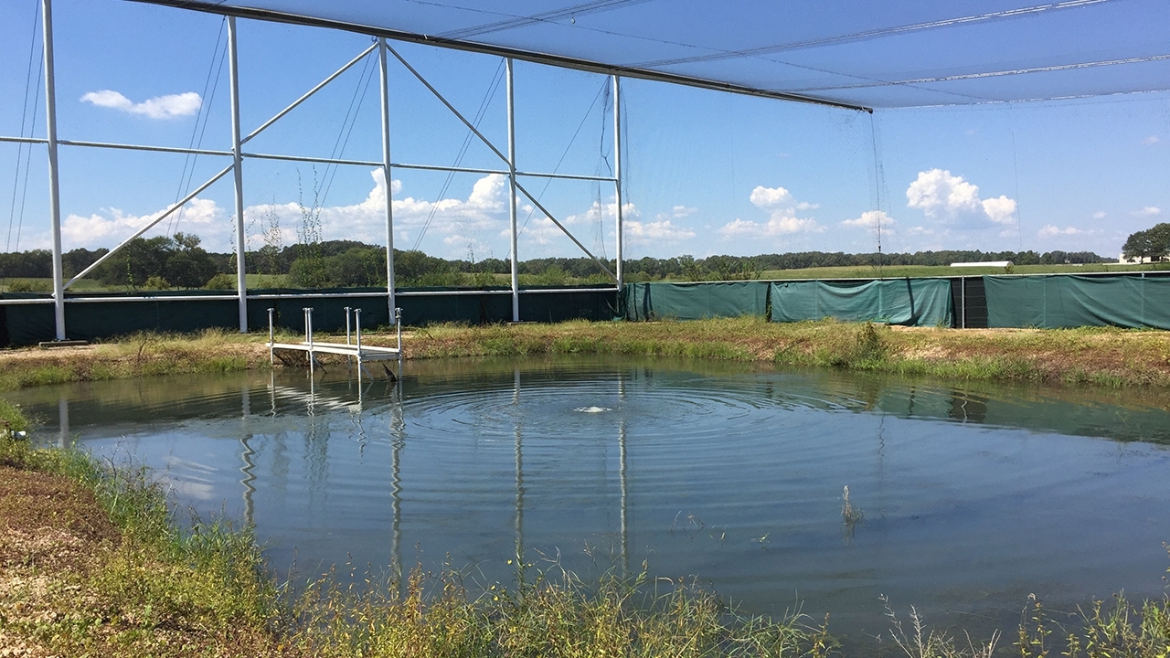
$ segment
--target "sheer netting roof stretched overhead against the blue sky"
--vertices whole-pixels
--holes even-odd
[[[866,108],[1170,89],[1161,0],[143,0]]]

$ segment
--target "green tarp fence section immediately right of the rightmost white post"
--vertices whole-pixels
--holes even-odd
[[[768,282],[627,283],[626,320],[700,320],[768,315]]]

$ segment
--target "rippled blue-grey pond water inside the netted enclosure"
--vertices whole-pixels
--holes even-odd
[[[693,575],[750,612],[798,601],[854,640],[903,616],[1013,633],[1163,596],[1170,398],[694,361],[408,362],[26,390],[41,437],[159,469],[255,523],[274,568],[507,560]],[[842,488],[862,510],[842,520]]]

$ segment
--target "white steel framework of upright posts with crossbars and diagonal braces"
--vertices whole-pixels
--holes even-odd
[[[53,48],[53,0],[41,0],[42,12],[41,12],[41,23],[43,28],[43,43],[44,43],[44,111],[47,115],[46,122],[46,137],[8,137],[0,136],[0,142],[8,143],[22,143],[22,144],[44,144],[48,148],[48,164],[49,164],[49,219],[53,229],[53,297],[51,299],[32,299],[32,300],[0,300],[0,306],[16,306],[16,304],[54,304],[54,316],[55,316],[55,329],[56,340],[64,341],[67,336],[66,327],[66,303],[102,303],[102,302],[126,302],[126,301],[225,301],[225,300],[236,300],[239,302],[240,313],[240,333],[248,331],[248,300],[273,300],[273,299],[321,299],[321,297],[349,297],[349,296],[362,296],[362,297],[386,297],[387,308],[390,310],[391,317],[394,315],[395,297],[398,296],[434,296],[434,295],[511,295],[512,301],[512,321],[518,322],[521,320],[519,315],[519,295],[522,294],[546,294],[546,293],[580,293],[580,292],[598,292],[598,290],[620,290],[624,283],[622,274],[622,206],[621,206],[621,78],[617,74],[610,75],[611,84],[613,85],[613,150],[614,150],[614,170],[612,177],[605,176],[578,176],[578,174],[566,174],[566,173],[548,173],[548,172],[536,172],[536,171],[523,171],[517,169],[516,164],[516,136],[515,136],[515,103],[514,103],[514,80],[512,80],[512,62],[511,56],[505,57],[507,62],[507,95],[508,95],[508,153],[505,155],[495,144],[491,143],[475,125],[467,119],[449,101],[447,101],[443,95],[434,88],[414,67],[412,67],[405,57],[402,57],[397,50],[394,50],[388,43],[387,39],[381,35],[370,34],[370,36],[376,37],[376,43],[363,50],[356,57],[350,60],[345,66],[337,69],[335,73],[321,81],[316,87],[307,91],[300,98],[290,103],[283,110],[276,112],[270,119],[262,123],[259,128],[249,132],[247,136],[242,135],[240,125],[240,71],[239,71],[239,59],[238,59],[238,32],[236,32],[236,18],[229,13],[223,13],[227,18],[228,25],[228,69],[229,69],[229,85],[230,85],[230,103],[232,103],[232,149],[228,151],[213,150],[213,149],[184,149],[177,146],[152,146],[144,144],[119,144],[111,142],[89,142],[80,139],[58,139],[57,138],[57,122],[56,122],[56,83],[54,78],[54,48]],[[271,126],[274,123],[280,121],[284,115],[292,111],[297,105],[307,101],[314,94],[323,89],[330,82],[336,80],[343,73],[349,70],[351,67],[363,61],[365,57],[370,56],[374,52],[378,53],[378,64],[380,74],[380,105],[381,105],[381,150],[383,159],[381,162],[373,160],[356,160],[356,159],[344,159],[344,158],[319,158],[310,156],[296,156],[296,155],[277,155],[277,153],[259,153],[252,151],[245,151],[243,145],[252,140],[254,137],[260,135],[267,128]],[[483,167],[463,167],[463,166],[442,166],[442,165],[428,165],[428,164],[411,164],[411,163],[394,163],[391,159],[391,139],[390,139],[390,70],[387,67],[387,53],[393,55],[398,62],[400,62],[414,77],[419,80],[456,118],[460,119],[470,131],[475,135],[488,149],[491,150],[501,160],[501,169],[483,169]],[[57,167],[57,150],[58,146],[70,146],[70,148],[89,148],[89,149],[119,149],[119,150],[131,150],[131,151],[150,151],[150,152],[163,152],[163,153],[185,153],[185,155],[197,155],[197,156],[216,156],[223,158],[232,158],[232,163],[225,169],[220,170],[218,173],[212,176],[204,184],[195,187],[193,192],[180,199],[178,203],[167,207],[165,212],[154,218],[153,221],[138,229],[133,235],[123,240],[119,245],[110,249],[106,254],[95,261],[92,265],[83,269],[76,276],[64,280],[64,272],[62,268],[62,249],[61,249],[61,187],[60,187],[60,172]],[[386,292],[385,293],[359,293],[359,294],[342,294],[342,293],[308,293],[308,294],[289,294],[289,295],[249,295],[247,293],[247,285],[245,280],[246,272],[246,241],[245,241],[245,225],[243,225],[243,163],[247,159],[266,159],[266,160],[281,160],[281,162],[294,162],[294,163],[321,163],[321,164],[333,164],[333,165],[353,165],[353,166],[372,166],[379,167],[383,171],[383,177],[386,184]],[[393,180],[392,172],[394,169],[405,170],[420,170],[420,171],[446,171],[446,172],[459,172],[459,173],[482,173],[482,174],[501,174],[508,177],[509,186],[509,225],[510,225],[510,239],[511,239],[511,289],[510,290],[448,290],[448,292],[426,292],[426,290],[412,290],[412,292],[397,292],[394,286],[394,217],[392,207],[392,194],[391,194],[391,181]],[[193,295],[193,296],[131,296],[131,297],[66,297],[66,290],[76,283],[80,279],[84,277],[87,274],[91,273],[102,262],[112,256],[115,253],[125,247],[131,240],[143,235],[154,226],[157,226],[164,219],[171,217],[176,211],[181,208],[184,205],[190,203],[195,196],[202,193],[205,190],[211,187],[215,181],[220,180],[228,173],[233,174],[234,178],[234,190],[235,190],[235,248],[236,248],[236,294],[234,295]],[[607,263],[601,259],[593,255],[585,245],[581,244],[566,227],[564,224],[557,220],[557,218],[541,204],[535,194],[528,191],[524,185],[519,181],[522,178],[551,178],[551,179],[563,179],[563,180],[587,180],[597,183],[611,183],[614,186],[614,197],[617,199],[617,212],[615,212],[615,228],[617,228],[617,272],[612,272]],[[604,288],[552,288],[552,289],[541,289],[541,290],[521,290],[519,289],[519,259],[517,254],[517,222],[516,222],[516,211],[518,203],[518,194],[523,194],[537,210],[544,213],[552,222],[569,237],[587,256],[593,259],[601,269],[613,279],[613,287]]]

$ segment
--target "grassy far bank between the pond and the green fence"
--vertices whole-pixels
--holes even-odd
[[[289,338],[295,340],[289,335]],[[370,344],[390,334],[366,333]],[[0,391],[150,375],[267,369],[267,335],[139,334],[97,345],[0,351]],[[407,358],[606,354],[771,362],[987,382],[1170,386],[1170,333],[1113,328],[935,329],[756,317],[417,328]]]

